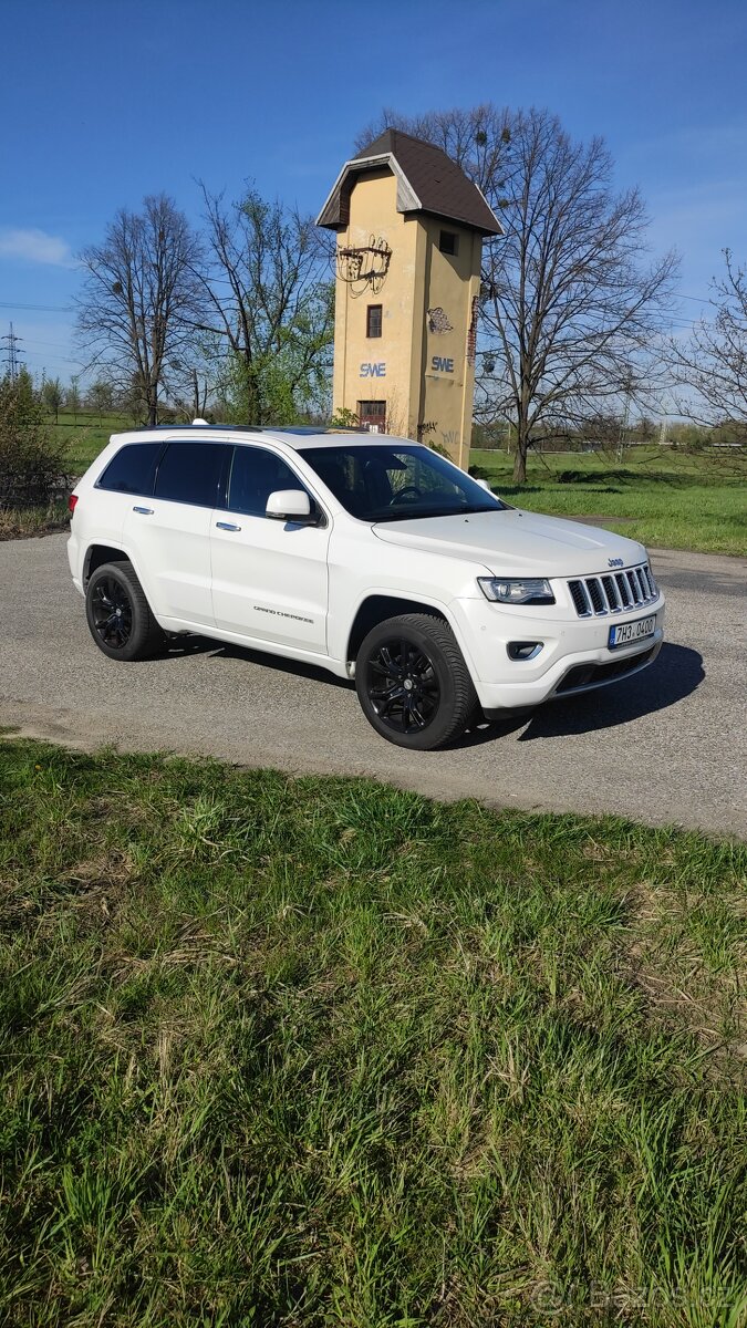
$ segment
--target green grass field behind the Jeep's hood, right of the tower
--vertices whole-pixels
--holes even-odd
[[[506,453],[473,449],[471,463],[506,502],[530,511],[601,517],[621,535],[665,548],[747,554],[747,469],[731,453],[630,448],[622,462],[598,454],[548,454],[530,459],[522,487],[513,485],[513,458]]]

